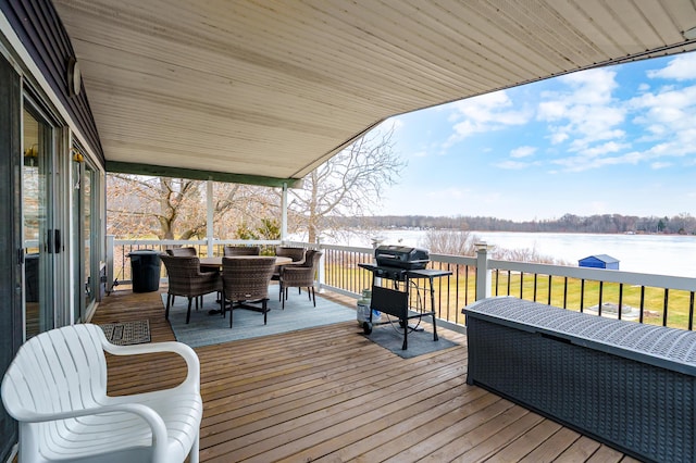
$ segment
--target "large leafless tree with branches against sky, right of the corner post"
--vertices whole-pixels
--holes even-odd
[[[290,190],[288,209],[309,242],[321,232],[340,230],[339,217],[371,212],[384,188],[396,183],[407,164],[394,152],[393,135],[394,127],[370,132],[304,177],[303,189]]]

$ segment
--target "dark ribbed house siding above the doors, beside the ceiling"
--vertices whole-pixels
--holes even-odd
[[[75,52],[53,3],[0,0],[0,9],[103,166],[104,154],[85,89],[77,96],[70,95],[67,66]]]

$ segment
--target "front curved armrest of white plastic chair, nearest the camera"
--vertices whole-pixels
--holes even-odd
[[[138,415],[152,429],[152,461],[165,461],[167,442],[166,425],[162,417],[152,409],[141,403],[117,403],[113,405],[94,406],[89,409],[69,410],[55,413],[36,413],[24,410],[16,420],[25,423],[44,423],[57,420],[77,418],[80,416],[98,415],[103,413],[123,412]]]

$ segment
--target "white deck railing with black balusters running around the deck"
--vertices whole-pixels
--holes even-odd
[[[194,246],[201,255],[222,255],[226,245],[260,245],[272,252],[279,243],[275,240],[214,240],[210,243],[206,240],[109,239],[108,268],[111,273],[107,290],[114,284],[129,281],[127,255],[134,250],[164,251],[167,247]],[[299,241],[283,245],[323,251],[318,274],[320,290],[358,299],[372,284],[372,274],[358,266],[373,262],[372,248]],[[432,268],[451,272],[450,276],[434,281],[434,310],[439,320],[455,327],[465,325],[461,313],[463,306],[489,296],[511,296],[600,316],[694,329],[696,278],[493,260],[488,258],[486,246],[480,246],[475,256],[431,254],[430,258]]]

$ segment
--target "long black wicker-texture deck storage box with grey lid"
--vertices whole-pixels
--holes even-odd
[[[464,313],[467,383],[643,461],[694,461],[696,333],[508,297]]]

